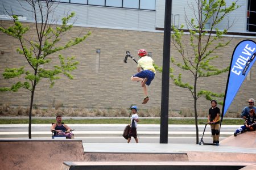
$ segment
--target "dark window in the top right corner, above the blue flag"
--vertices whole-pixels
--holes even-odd
[[[256,32],[256,1],[248,0],[246,30]]]

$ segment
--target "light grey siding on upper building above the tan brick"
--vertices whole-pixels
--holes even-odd
[[[0,15],[6,14],[6,10],[10,14],[22,15],[27,20],[33,20],[31,7],[26,5],[26,2],[19,0],[24,8],[20,7],[18,0],[1,0],[0,1]],[[57,7],[53,15],[54,20],[61,22],[64,14],[70,12],[76,13],[75,24],[94,25],[96,27],[115,27],[115,28],[133,28],[133,29],[152,29],[155,27],[164,28],[164,9],[165,0],[156,0],[156,11],[134,10],[127,8],[114,7],[100,7],[89,5],[77,5],[68,3],[56,3]],[[229,6],[232,1],[226,1]],[[229,14],[220,24],[217,25],[219,29],[226,28],[227,24],[233,23],[230,31],[246,32],[246,11],[247,0],[239,0],[240,8]],[[5,8],[4,8],[4,7]],[[176,16],[176,23],[185,25],[185,15],[190,20],[193,16],[193,8],[195,0],[172,0],[172,15]],[[73,22],[73,21],[71,21]],[[174,18],[172,18],[172,23]],[[186,26],[186,25],[185,25]],[[187,27],[184,27],[187,28]]]

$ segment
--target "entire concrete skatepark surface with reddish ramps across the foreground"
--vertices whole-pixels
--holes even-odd
[[[2,139],[0,157],[1,169],[256,169],[256,131],[220,146]]]

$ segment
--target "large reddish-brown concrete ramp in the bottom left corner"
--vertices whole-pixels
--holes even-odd
[[[60,169],[64,161],[84,161],[80,140],[2,140],[1,169]]]

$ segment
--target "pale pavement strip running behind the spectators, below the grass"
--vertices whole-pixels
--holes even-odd
[[[122,137],[123,129],[126,124],[70,124],[71,129],[75,129],[76,137]],[[28,134],[27,124],[3,124],[0,125],[0,138],[26,138]],[[32,137],[46,138],[51,137],[49,124],[32,124]],[[97,129],[96,129],[97,128]],[[155,128],[154,130],[148,130]],[[139,137],[159,137],[160,125],[151,124],[138,126]],[[169,125],[168,137],[195,137],[196,131],[186,130],[188,128],[195,128],[195,125]],[[200,135],[201,129],[204,125],[199,125]],[[222,128],[236,129],[238,125],[222,125]],[[18,130],[7,130],[18,129]],[[81,129],[81,130],[79,130]],[[100,130],[101,129],[101,130]],[[157,129],[157,130],[156,130]],[[179,129],[179,130],[176,130]],[[210,137],[210,130],[205,131],[205,137]],[[229,137],[233,135],[233,130],[222,131],[221,137]]]

